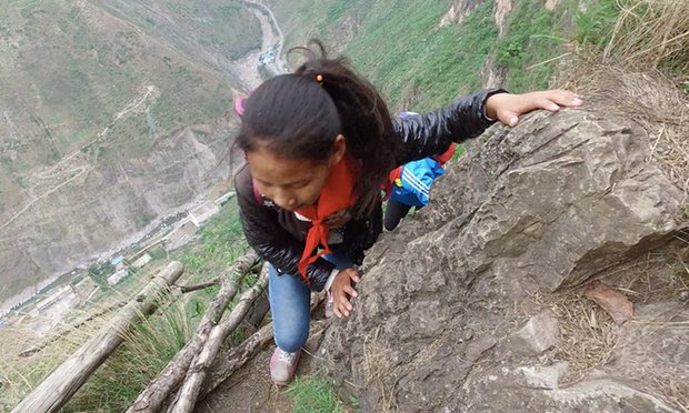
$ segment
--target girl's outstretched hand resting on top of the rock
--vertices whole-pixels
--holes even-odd
[[[560,107],[580,107],[583,102],[567,90],[546,90],[522,94],[497,93],[486,101],[486,115],[515,127],[519,117],[536,109],[557,112]]]

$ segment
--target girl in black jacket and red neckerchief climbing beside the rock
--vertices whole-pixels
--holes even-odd
[[[326,289],[333,313],[350,315],[357,265],[382,231],[380,187],[391,170],[475,138],[495,120],[513,127],[531,110],[579,104],[566,91],[490,89],[392,120],[346,61],[313,54],[294,73],[254,90],[236,142],[247,165],[234,185],[247,240],[270,263],[272,380],[286,384],[294,374],[309,334],[311,290]]]

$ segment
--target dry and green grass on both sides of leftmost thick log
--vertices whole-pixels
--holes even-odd
[[[0,411],[9,412],[13,409],[57,366],[90,340],[118,313],[123,302],[131,300],[148,283],[152,272],[153,270],[147,270],[127,286],[110,289],[102,294],[96,294],[93,301],[82,302],[44,335],[37,334],[34,330],[41,324],[52,324],[48,316],[17,314],[12,324],[2,329],[0,334]],[[169,303],[167,294],[159,299],[159,302]],[[151,374],[154,375],[160,370],[160,364],[170,357],[169,349],[178,347],[179,342],[183,341],[180,335],[188,335],[189,332],[183,304],[177,302],[166,306],[166,310],[156,316],[161,319],[159,322],[146,320],[138,324],[133,332],[124,334],[124,345],[118,349],[72,397],[66,411],[90,411],[103,403],[113,407],[120,400],[116,401],[118,397],[112,394],[129,391],[126,386],[131,385],[137,377],[147,375],[150,379]],[[132,386],[134,390],[148,382],[139,381],[140,383]]]

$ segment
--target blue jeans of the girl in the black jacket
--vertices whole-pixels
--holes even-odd
[[[353,266],[344,255],[328,254],[323,258],[338,270]],[[311,291],[304,285],[301,274],[278,274],[272,264],[268,264],[268,298],[272,315],[273,336],[280,350],[293,353],[309,338],[311,320]]]

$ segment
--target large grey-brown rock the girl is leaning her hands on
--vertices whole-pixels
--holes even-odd
[[[593,275],[640,291],[629,263],[689,226],[645,133],[565,110],[493,127],[467,152],[431,206],[368,252],[355,313],[321,349],[338,389],[366,412],[677,411],[689,310],[667,265],[643,279],[669,293],[637,295],[621,326],[562,304]],[[586,367],[567,355],[581,320],[608,343]]]

